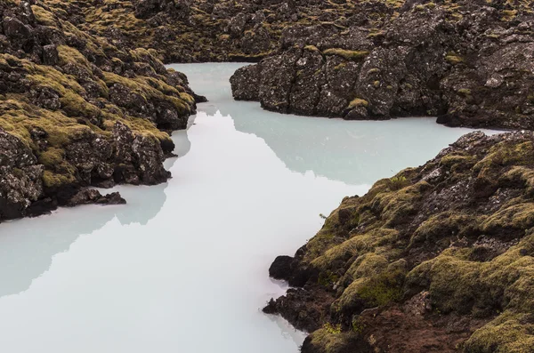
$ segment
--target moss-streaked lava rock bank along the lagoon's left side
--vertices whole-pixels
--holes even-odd
[[[167,132],[202,99],[153,50],[84,30],[89,3],[0,2],[0,221],[166,181]]]

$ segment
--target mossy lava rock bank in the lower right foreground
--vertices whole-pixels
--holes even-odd
[[[465,135],[345,197],[271,275],[303,352],[532,352],[534,133]]]

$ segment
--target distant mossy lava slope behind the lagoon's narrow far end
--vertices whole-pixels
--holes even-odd
[[[46,3],[76,13],[77,25],[90,33],[157,49],[166,62],[260,60],[279,50],[279,40],[288,28],[346,27],[345,16],[355,9],[353,2],[316,0]]]

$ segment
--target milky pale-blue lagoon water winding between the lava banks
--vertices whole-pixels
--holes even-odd
[[[469,131],[266,112],[231,99],[240,65],[173,65],[210,101],[174,133],[172,180],[0,225],[0,351],[296,353],[303,333],[261,312],[285,289],[271,261]]]

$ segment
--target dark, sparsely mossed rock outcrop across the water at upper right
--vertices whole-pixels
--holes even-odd
[[[439,116],[455,126],[532,129],[527,3],[340,2],[344,18],[295,23],[280,37],[282,52],[239,69],[234,98],[349,120]]]

